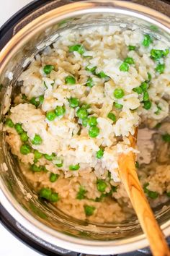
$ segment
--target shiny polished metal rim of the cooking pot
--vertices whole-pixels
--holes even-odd
[[[140,12],[138,11],[140,9]],[[30,35],[33,36],[43,29],[53,25],[55,22],[59,22],[66,18],[71,18],[79,14],[91,13],[120,13],[128,14],[129,16],[138,17],[142,20],[151,22],[158,27],[161,27],[167,33],[170,34],[169,17],[161,14],[148,7],[143,7],[139,4],[134,4],[128,1],[81,1],[72,4],[66,4],[63,7],[58,7],[42,14],[28,25],[22,28],[14,37],[9,40],[9,43],[1,50],[0,53],[0,73],[11,59],[15,51],[24,45],[29,39]],[[8,189],[3,183],[3,179],[0,179],[0,197],[1,204],[6,208],[12,216],[19,220],[19,223],[29,231],[34,231],[41,239],[45,239],[50,244],[59,244],[60,247],[71,249],[76,252],[83,252],[89,254],[97,254],[99,250],[100,255],[108,255],[113,253],[130,252],[135,249],[140,249],[148,246],[148,241],[144,234],[131,237],[129,239],[121,239],[115,241],[94,241],[79,239],[67,234],[62,234],[59,231],[50,229],[45,224],[40,223],[37,219],[30,216],[26,210],[24,210],[19,202],[12,197]],[[169,236],[170,234],[170,219],[161,225],[161,229],[164,230],[164,234]],[[57,237],[56,237],[57,236]]]

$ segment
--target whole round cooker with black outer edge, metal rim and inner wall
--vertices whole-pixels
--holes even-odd
[[[52,44],[64,30],[117,24],[130,29],[140,27],[157,38],[170,40],[169,16],[168,1],[32,1],[1,27],[1,122],[19,74],[27,68],[32,56]],[[45,255],[150,253],[145,248],[148,246],[146,236],[135,217],[118,226],[87,223],[41,202],[24,179],[4,137],[1,132],[1,221],[23,242]],[[170,205],[160,205],[154,212],[168,238]]]

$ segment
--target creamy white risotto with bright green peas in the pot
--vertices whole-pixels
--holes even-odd
[[[6,142],[42,200],[80,220],[125,221],[133,208],[117,160],[130,150],[151,206],[169,200],[169,43],[118,26],[67,30],[18,85]]]

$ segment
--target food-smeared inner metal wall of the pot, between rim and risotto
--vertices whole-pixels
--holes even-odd
[[[149,32],[157,38],[161,38],[162,40],[168,40],[169,38],[169,35],[164,30],[161,30],[161,27],[141,19],[126,16],[125,14],[84,14],[62,19],[45,29],[41,28],[39,33],[30,35],[30,39],[27,42],[22,38],[24,43],[19,48],[19,51],[15,52],[7,64],[4,73],[1,75],[1,84],[4,85],[1,90],[1,121],[4,119],[9,98],[12,98],[19,90],[19,85],[16,82],[17,77],[27,68],[32,56],[52,44],[60,36],[60,33],[63,34],[65,30],[82,30],[83,27],[94,25],[119,25],[122,29],[128,27],[132,30],[139,26],[145,33]],[[87,223],[86,221],[79,221],[73,218],[73,216],[67,216],[61,210],[54,208],[53,205],[42,202],[38,199],[36,192],[27,183],[22,171],[20,171],[17,158],[9,152],[3,132],[1,133],[1,148],[1,177],[15,208],[17,208],[19,203],[31,216],[50,228],[84,239],[112,240],[130,238],[142,234],[135,216],[133,219],[131,218],[119,224]],[[165,223],[170,216],[170,209],[164,207],[164,210],[162,210],[162,207],[163,205],[159,205],[155,209],[159,224]]]

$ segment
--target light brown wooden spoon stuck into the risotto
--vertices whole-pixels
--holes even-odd
[[[138,134],[138,129],[135,129],[135,135],[129,136],[130,147],[135,148],[136,138]],[[161,231],[158,223],[153,215],[148,200],[143,192],[140,185],[138,175],[135,169],[135,154],[130,151],[128,154],[121,154],[118,160],[119,164],[119,174],[122,184],[130,197],[133,208],[140,226],[143,232],[146,234],[148,242],[151,247],[151,251],[154,256],[169,256],[169,247],[166,244],[166,239]]]

